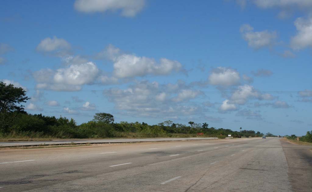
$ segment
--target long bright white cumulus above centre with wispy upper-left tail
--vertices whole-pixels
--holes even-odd
[[[156,62],[154,58],[138,57],[134,54],[122,53],[120,49],[112,45],[109,45],[105,50],[98,53],[97,57],[104,57],[113,61],[113,74],[116,78],[168,75],[173,71],[185,71],[178,61],[161,58],[159,62]]]

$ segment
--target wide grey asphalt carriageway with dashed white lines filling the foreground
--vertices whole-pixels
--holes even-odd
[[[310,153],[277,138],[1,150],[0,192],[311,191]]]

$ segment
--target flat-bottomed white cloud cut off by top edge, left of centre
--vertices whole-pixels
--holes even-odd
[[[77,11],[106,12],[121,10],[121,15],[134,17],[145,5],[145,0],[76,0],[74,7]]]

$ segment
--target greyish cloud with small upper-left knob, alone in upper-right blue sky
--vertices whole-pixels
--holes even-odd
[[[254,49],[262,47],[271,47],[277,37],[276,32],[268,30],[254,32],[253,27],[249,24],[244,24],[240,27],[240,32],[243,38],[248,42],[248,45]]]

